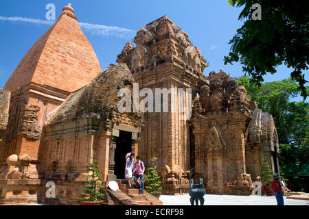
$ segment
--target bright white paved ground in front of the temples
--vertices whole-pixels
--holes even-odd
[[[205,205],[277,205],[275,196],[231,196],[206,194]],[[190,205],[189,194],[180,196],[162,195],[163,205]],[[309,205],[309,201],[286,199],[284,205]]]

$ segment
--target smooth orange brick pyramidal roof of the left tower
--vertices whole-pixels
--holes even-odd
[[[71,5],[31,47],[4,86],[13,92],[35,82],[73,92],[87,85],[102,68],[91,44],[80,29]]]

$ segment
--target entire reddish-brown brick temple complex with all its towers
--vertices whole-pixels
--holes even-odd
[[[128,152],[146,168],[158,157],[163,194],[187,193],[189,179],[203,178],[208,194],[249,195],[262,159],[279,172],[273,117],[223,70],[205,76],[207,60],[167,16],[137,31],[136,45],[126,43],[117,66],[103,72],[76,20],[70,5],[63,8],[0,90],[0,203],[79,205],[94,153],[102,183],[119,183],[116,192],[102,190],[106,205],[162,205],[128,188]],[[168,112],[119,112],[119,89],[133,94],[135,82],[192,96],[173,106],[169,99]],[[181,102],[192,103],[187,119]],[[56,198],[45,195],[49,181]]]

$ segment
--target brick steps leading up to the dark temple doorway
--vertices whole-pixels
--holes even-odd
[[[126,179],[117,180],[117,183],[119,185],[118,191],[122,191],[124,194],[126,194],[126,196],[133,199],[134,201],[133,205],[163,205],[163,202],[160,201],[159,198],[152,196],[145,190],[144,190],[144,194],[141,194],[140,190],[137,188],[137,185],[132,184],[132,187],[130,187],[128,185],[128,180]]]

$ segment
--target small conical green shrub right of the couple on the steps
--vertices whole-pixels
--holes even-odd
[[[145,188],[147,192],[159,198],[162,193],[162,186],[160,180],[161,177],[159,177],[157,166],[155,165],[157,159],[157,157],[153,157],[151,159],[152,165],[147,168],[147,174],[145,175]]]

